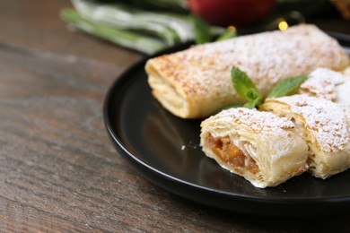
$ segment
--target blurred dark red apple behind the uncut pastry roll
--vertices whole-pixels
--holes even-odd
[[[188,0],[191,13],[210,24],[242,26],[264,18],[276,0]]]

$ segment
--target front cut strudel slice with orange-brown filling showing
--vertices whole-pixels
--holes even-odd
[[[292,121],[269,112],[230,108],[201,124],[207,157],[257,187],[277,186],[306,170],[308,146]]]

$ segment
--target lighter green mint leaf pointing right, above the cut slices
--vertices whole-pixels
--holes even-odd
[[[277,83],[275,88],[268,94],[267,98],[287,96],[288,94],[298,89],[302,82],[305,82],[307,78],[307,74],[286,78]]]

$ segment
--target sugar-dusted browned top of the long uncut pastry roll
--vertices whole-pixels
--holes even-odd
[[[231,83],[232,66],[248,73],[259,92],[267,95],[286,77],[323,66],[342,69],[348,56],[335,39],[303,24],[191,47],[157,62],[163,76],[178,82],[189,96],[233,99],[237,93]]]

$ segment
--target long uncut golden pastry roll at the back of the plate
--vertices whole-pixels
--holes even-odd
[[[336,39],[301,24],[154,57],[145,71],[154,98],[164,108],[183,118],[203,118],[245,102],[232,87],[232,66],[246,72],[265,97],[286,77],[347,65],[349,56]]]

